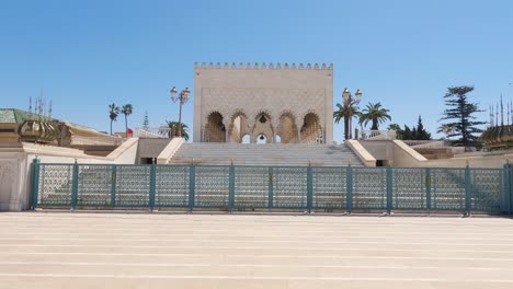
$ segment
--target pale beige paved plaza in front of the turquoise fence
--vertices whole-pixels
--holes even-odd
[[[513,288],[506,218],[2,212],[0,288]]]

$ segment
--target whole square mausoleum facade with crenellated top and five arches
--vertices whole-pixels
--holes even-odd
[[[194,68],[195,142],[333,142],[333,66]]]

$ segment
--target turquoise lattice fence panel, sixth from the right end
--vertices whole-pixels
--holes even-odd
[[[307,167],[273,167],[273,208],[307,209]]]

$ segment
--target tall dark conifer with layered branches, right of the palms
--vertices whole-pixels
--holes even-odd
[[[479,109],[477,103],[470,103],[467,93],[472,92],[474,86],[452,86],[447,89],[444,95],[445,105],[448,107],[444,111],[443,117],[438,120],[449,120],[443,123],[437,132],[443,131],[443,127],[453,127],[453,136],[460,137],[454,144],[464,146],[465,149],[477,146],[477,138],[475,134],[482,132],[478,126],[485,125],[486,122],[474,120],[477,117],[475,113],[483,112]]]

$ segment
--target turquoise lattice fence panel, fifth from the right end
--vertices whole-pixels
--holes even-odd
[[[312,167],[312,208],[323,210],[347,209],[346,167]]]

